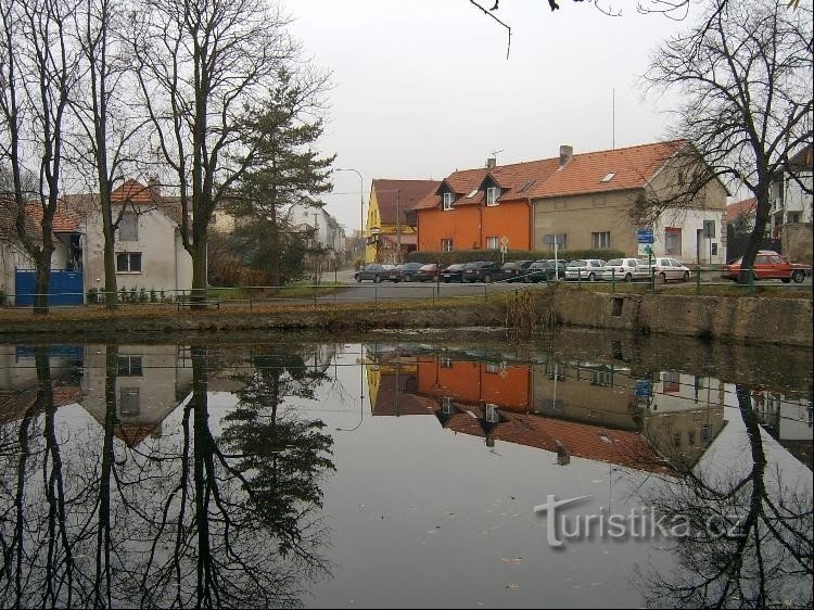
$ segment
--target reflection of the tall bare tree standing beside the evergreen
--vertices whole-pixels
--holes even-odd
[[[317,528],[311,537],[303,536],[303,514],[281,514],[287,505],[279,498],[288,491],[256,475],[279,456],[221,450],[209,428],[205,347],[192,348],[192,366],[180,454],[162,458],[174,465],[170,476],[176,483],[160,505],[150,508],[145,525],[152,542],[133,593],[138,590],[142,607],[298,605],[303,579],[323,567],[314,549],[322,544],[325,532]],[[224,436],[230,449],[243,443],[229,431]],[[289,442],[294,445],[297,439]],[[254,448],[259,446],[245,450]],[[251,475],[247,463],[255,469]],[[276,557],[275,547],[293,549],[293,558],[285,552]]]

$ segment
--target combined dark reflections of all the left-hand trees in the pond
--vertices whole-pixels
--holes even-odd
[[[0,428],[0,606],[301,606],[328,575],[314,509],[332,440],[282,411],[287,369],[250,374],[216,439],[207,350],[193,347],[178,441],[128,448],[114,440],[118,352],[106,350],[101,439],[58,423],[46,347],[36,396],[17,396],[21,417]]]

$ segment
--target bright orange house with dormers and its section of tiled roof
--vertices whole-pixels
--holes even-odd
[[[532,250],[532,204],[525,194],[557,170],[558,160],[463,169],[414,209],[418,250]]]

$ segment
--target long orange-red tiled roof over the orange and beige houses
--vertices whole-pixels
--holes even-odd
[[[487,177],[500,187],[503,192],[498,201],[501,202],[637,189],[645,187],[684,143],[683,140],[672,140],[575,154],[562,168],[559,157],[552,157],[492,169],[465,169],[449,175],[444,183],[459,195],[456,205],[483,201]],[[602,180],[611,174],[609,180]],[[474,195],[467,196],[472,191],[476,191]],[[433,208],[440,204],[441,196],[431,193],[416,208]]]

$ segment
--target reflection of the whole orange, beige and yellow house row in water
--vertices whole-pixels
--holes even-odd
[[[368,353],[371,354],[370,352]],[[434,414],[445,429],[665,472],[695,463],[723,428],[723,383],[673,371],[657,381],[595,363],[483,361],[374,352],[372,415]]]

